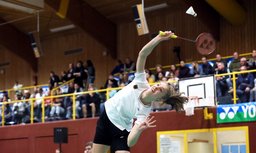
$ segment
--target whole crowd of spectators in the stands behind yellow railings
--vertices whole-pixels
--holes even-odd
[[[252,51],[252,58],[247,63],[245,57],[240,58],[237,52],[233,54],[234,60],[230,62],[229,66],[225,59],[222,59],[221,54],[216,55],[216,61],[211,65],[207,61],[207,57],[202,57],[202,64],[199,65],[196,60],[192,61],[190,67],[186,65],[184,60],[180,61],[180,66],[177,68],[171,65],[169,71],[163,71],[160,64],[156,65],[156,73],[153,74],[150,70],[146,71],[146,79],[149,83],[174,81],[183,78],[200,77],[210,74],[224,74],[235,71],[246,71],[256,69],[256,50]],[[133,73],[136,71],[136,64],[130,58],[126,59],[123,64],[121,60],[117,60],[115,68],[110,72],[109,78],[100,89],[125,87],[134,78]],[[123,72],[128,72],[124,73]],[[115,76],[114,76],[115,74]],[[255,101],[256,98],[256,73],[242,73],[237,75],[236,79],[236,95],[239,98],[238,103]],[[55,75],[53,71],[50,72],[49,90],[43,92],[42,88],[34,88],[34,92],[30,93],[25,89],[19,89],[23,85],[15,82],[13,89],[15,90],[15,97],[13,100],[24,100],[31,98],[42,98],[51,95],[51,89],[58,87],[58,82],[67,82],[75,78],[74,81],[69,82],[65,89],[57,89],[53,91],[53,95],[72,94],[84,91],[98,90],[94,85],[95,68],[92,61],[87,60],[83,65],[82,61],[78,61],[76,66],[69,64],[68,71],[61,71],[61,78]],[[233,95],[233,81],[232,75],[224,75],[216,77],[216,93],[217,96]],[[87,85],[88,82],[88,85]],[[178,82],[172,82],[175,89],[178,89]],[[120,89],[109,90],[109,98],[115,95]],[[6,92],[0,97],[0,102],[11,101]],[[90,94],[80,94],[75,96],[75,117],[86,118],[96,117],[105,109],[104,103],[106,101],[106,92],[93,92]],[[2,108],[2,107],[1,107]],[[0,111],[1,111],[0,108]],[[166,108],[155,107],[153,111],[166,110]],[[36,100],[33,103],[34,119],[40,122],[42,118],[42,99]],[[73,116],[73,96],[64,96],[52,99],[46,98],[44,100],[44,114],[45,119],[71,119]],[[30,122],[31,115],[31,101],[23,101],[13,104],[5,104],[4,118],[6,122]],[[2,113],[1,113],[2,116]],[[0,118],[0,121],[2,117]]]

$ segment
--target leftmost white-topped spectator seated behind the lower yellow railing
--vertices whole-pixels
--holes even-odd
[[[15,95],[15,101],[21,100],[17,95]],[[13,104],[13,114],[11,122],[20,122],[23,117],[23,113],[25,112],[25,108],[23,102],[17,102]]]

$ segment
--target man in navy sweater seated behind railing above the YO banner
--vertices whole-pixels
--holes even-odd
[[[240,71],[246,71],[246,66],[242,66]],[[246,103],[249,102],[250,97],[250,90],[253,88],[254,85],[254,78],[251,73],[241,73],[238,75],[236,79],[236,95],[238,96],[239,100],[238,103]],[[233,89],[229,91],[233,93]]]

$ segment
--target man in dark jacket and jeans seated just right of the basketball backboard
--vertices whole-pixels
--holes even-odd
[[[229,68],[224,66],[222,62],[218,63],[218,70],[216,71],[216,74],[224,74],[224,73],[230,73]],[[223,76],[217,76],[216,77],[216,92],[217,96],[224,96],[224,93],[227,89],[229,90],[230,87],[232,87],[232,83],[230,81],[231,76],[230,75],[223,75]]]

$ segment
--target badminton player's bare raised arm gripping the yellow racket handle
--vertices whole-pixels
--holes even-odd
[[[136,69],[137,72],[142,72],[144,71],[144,67],[145,67],[145,62],[146,62],[146,58],[147,56],[152,52],[152,50],[154,49],[154,47],[163,40],[168,40],[170,39],[171,35],[173,33],[171,33],[171,31],[165,31],[165,36],[161,36],[161,35],[157,35],[154,39],[152,39],[149,43],[147,43],[147,45],[145,45],[142,50],[139,53],[138,59],[137,59],[137,64],[136,64]]]

